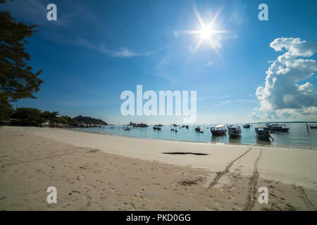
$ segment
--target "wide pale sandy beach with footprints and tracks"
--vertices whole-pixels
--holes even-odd
[[[316,162],[302,148],[1,127],[0,210],[316,210]]]

